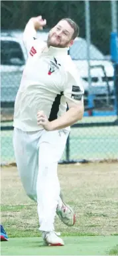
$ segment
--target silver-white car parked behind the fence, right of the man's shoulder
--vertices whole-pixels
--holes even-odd
[[[93,44],[89,47],[88,62],[88,44],[85,39],[80,37],[77,37],[72,47],[70,47],[70,55],[84,80],[85,95],[93,94],[95,103],[101,101],[101,103],[111,104],[111,100],[114,99],[114,70],[112,62],[108,61],[105,55]]]

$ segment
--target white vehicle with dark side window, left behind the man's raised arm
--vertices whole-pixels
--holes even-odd
[[[45,34],[41,34],[43,39]],[[1,106],[9,106],[9,103],[15,102],[26,61],[23,33],[1,33]]]

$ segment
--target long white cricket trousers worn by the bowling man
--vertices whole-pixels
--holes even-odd
[[[14,128],[13,146],[21,182],[30,199],[37,202],[40,231],[54,230],[60,197],[57,166],[69,131],[23,132]]]

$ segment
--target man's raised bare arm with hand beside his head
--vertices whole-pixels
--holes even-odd
[[[42,30],[44,25],[46,25],[46,19],[42,19],[42,16],[32,17],[27,23],[23,33],[23,41],[28,52],[32,46],[32,41],[36,39],[36,31]]]

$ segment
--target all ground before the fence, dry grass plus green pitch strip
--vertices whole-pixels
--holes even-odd
[[[58,176],[66,202],[76,212],[76,225],[56,217],[65,246],[47,248],[38,231],[36,204],[26,195],[16,167],[1,168],[1,223],[9,242],[1,255],[118,255],[118,165],[61,165]]]

